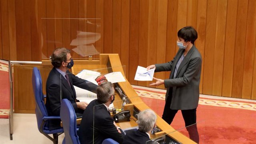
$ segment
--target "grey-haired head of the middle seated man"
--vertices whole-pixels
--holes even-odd
[[[106,103],[108,99],[115,93],[115,90],[112,89],[113,84],[109,81],[101,83],[97,91],[97,99],[100,103]]]

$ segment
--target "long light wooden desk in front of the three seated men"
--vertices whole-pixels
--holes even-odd
[[[87,63],[83,63],[80,61],[80,63],[75,61],[74,69],[72,69],[72,72],[76,74],[79,71],[82,71],[83,69],[100,69],[102,68],[103,72],[102,73],[111,73],[111,72],[118,72],[120,71],[123,76],[124,70],[122,67],[122,64],[120,62],[118,54],[100,54],[100,63],[96,64],[95,61],[93,61],[94,65],[87,65]],[[108,68],[108,69],[106,69]],[[145,110],[145,109],[150,109],[143,101],[140,99],[138,94],[134,91],[128,80],[126,79],[126,82],[121,82],[118,83],[118,86],[120,89],[122,89],[122,92],[126,95],[126,97],[129,99],[130,104],[127,104],[124,106],[124,110],[129,109],[131,115],[133,115],[134,108],[136,108],[139,111]],[[114,105],[120,106],[120,101],[118,97],[116,97],[116,100],[114,101]],[[117,102],[118,101],[118,102]],[[118,103],[118,104],[117,104]],[[127,128],[127,127],[134,127],[136,124],[134,123],[134,120],[131,120],[129,122],[120,122],[117,123],[121,128]],[[173,138],[176,141],[181,142],[182,144],[196,144],[180,132],[173,132],[175,131],[172,126],[167,124],[160,116],[157,115],[157,121],[156,121],[157,127],[162,130],[162,133],[158,133],[157,136],[161,136],[161,134],[168,134],[169,132],[172,132],[168,134],[171,138]]]

